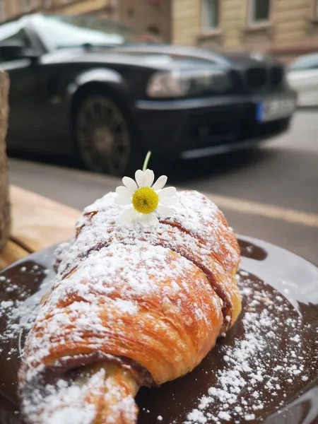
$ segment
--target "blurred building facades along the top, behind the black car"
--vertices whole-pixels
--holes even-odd
[[[98,13],[179,45],[285,61],[318,51],[318,0],[0,0],[0,21],[35,11]]]

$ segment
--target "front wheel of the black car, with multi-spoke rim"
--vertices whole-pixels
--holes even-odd
[[[113,95],[89,93],[81,100],[74,135],[81,162],[88,170],[122,177],[143,165],[146,151]]]

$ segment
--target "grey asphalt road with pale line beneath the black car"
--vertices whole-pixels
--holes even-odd
[[[119,184],[56,165],[9,162],[13,184],[76,208]],[[174,163],[169,177],[172,185],[211,196],[237,233],[285,247],[318,265],[318,111],[298,112],[288,134],[249,153]]]

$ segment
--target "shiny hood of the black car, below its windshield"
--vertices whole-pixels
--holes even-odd
[[[78,47],[61,49],[42,58],[43,63],[91,62],[146,66],[153,69],[183,69],[214,66],[218,69],[245,69],[267,66],[273,59],[261,54],[220,53],[174,45],[122,45],[117,47]]]

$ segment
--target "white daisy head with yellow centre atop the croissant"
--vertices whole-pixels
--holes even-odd
[[[161,175],[153,184],[155,175],[152,170],[137,170],[135,179],[124,177],[124,186],[117,187],[115,199],[119,205],[129,206],[122,211],[119,222],[129,225],[139,222],[144,226],[158,224],[158,216],[167,218],[173,215],[170,208],[173,196],[177,192],[175,187],[166,187],[167,177]]]

